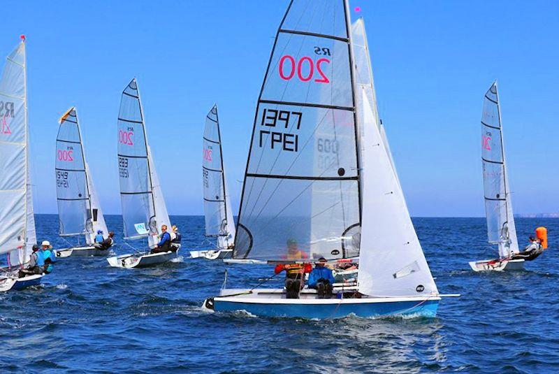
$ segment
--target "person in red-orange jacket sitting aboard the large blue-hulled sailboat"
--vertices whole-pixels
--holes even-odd
[[[300,261],[308,259],[309,255],[299,250],[297,240],[287,240],[287,254],[284,256],[286,260]],[[299,292],[305,286],[305,273],[312,271],[311,264],[278,264],[274,272],[276,274],[286,272],[285,275],[285,289],[287,299],[298,299]]]

